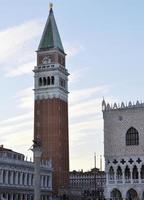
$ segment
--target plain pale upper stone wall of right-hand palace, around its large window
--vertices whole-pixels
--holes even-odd
[[[103,111],[105,157],[135,156],[144,153],[144,108]],[[126,146],[126,132],[134,127],[139,132],[139,145]]]

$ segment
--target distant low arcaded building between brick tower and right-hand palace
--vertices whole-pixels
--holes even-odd
[[[106,175],[104,171],[93,168],[91,171],[70,172],[71,196],[77,199],[104,199]]]

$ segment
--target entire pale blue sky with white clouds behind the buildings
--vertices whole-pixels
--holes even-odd
[[[103,96],[112,103],[144,99],[144,1],[52,2],[71,74],[70,165],[86,170],[94,152],[103,154]],[[32,69],[49,1],[0,3],[0,143],[30,156]]]

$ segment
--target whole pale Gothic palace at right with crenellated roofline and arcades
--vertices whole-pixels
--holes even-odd
[[[144,104],[102,103],[105,197],[144,199]]]

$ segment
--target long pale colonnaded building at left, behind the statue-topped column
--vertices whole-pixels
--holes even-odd
[[[41,200],[52,195],[51,162],[41,164]],[[34,163],[25,161],[24,155],[0,147],[0,199],[34,199]]]

